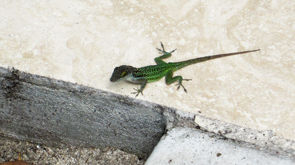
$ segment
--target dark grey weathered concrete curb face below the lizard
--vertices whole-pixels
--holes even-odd
[[[110,146],[147,158],[180,119],[167,107],[14,68],[0,68],[0,86],[0,135],[54,147]]]

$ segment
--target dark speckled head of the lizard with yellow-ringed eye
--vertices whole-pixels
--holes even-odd
[[[128,66],[128,65],[122,65],[122,66],[116,67],[114,69],[114,72],[112,74],[110,81],[116,82],[116,81],[120,81],[122,79],[128,78],[132,75],[132,71],[134,69],[135,68],[133,66]]]

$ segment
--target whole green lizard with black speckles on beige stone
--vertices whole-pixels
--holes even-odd
[[[176,49],[172,50],[171,52],[166,52],[164,50],[164,46],[161,42],[161,46],[163,50],[158,49],[163,55],[160,57],[155,58],[155,62],[157,65],[149,65],[145,66],[142,68],[135,68],[132,66],[128,65],[122,65],[119,67],[116,67],[114,69],[114,72],[112,74],[112,77],[110,79],[111,82],[117,82],[120,80],[127,80],[131,81],[133,83],[141,83],[140,89],[135,89],[136,92],[132,92],[132,94],[136,94],[135,97],[138,96],[139,93],[142,94],[143,89],[145,88],[145,85],[147,83],[153,82],[153,81],[158,81],[161,78],[165,76],[166,84],[171,84],[174,83],[175,81],[178,80],[178,87],[177,90],[180,88],[180,86],[183,87],[182,85],[182,80],[189,81],[191,79],[183,79],[181,76],[175,76],[173,77],[173,72],[181,69],[187,65],[203,62],[206,60],[211,60],[214,58],[219,58],[219,57],[226,57],[230,55],[236,55],[236,54],[242,54],[242,53],[249,53],[249,52],[254,52],[258,50],[249,50],[249,51],[244,51],[244,52],[237,52],[237,53],[227,53],[227,54],[219,54],[219,55],[211,55],[211,56],[206,56],[206,57],[200,57],[200,58],[194,58],[191,60],[186,60],[186,61],[181,61],[181,62],[176,62],[176,63],[165,63],[162,59],[168,58],[171,56],[171,53],[173,53]],[[186,89],[183,87],[184,91],[186,92]],[[143,94],[142,94],[143,95]]]

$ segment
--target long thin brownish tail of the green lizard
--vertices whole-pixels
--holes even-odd
[[[226,57],[226,56],[230,56],[230,55],[236,55],[236,54],[243,54],[243,53],[249,53],[249,52],[255,52],[258,51],[260,49],[257,50],[249,50],[249,51],[244,51],[244,52],[236,52],[236,53],[226,53],[226,54],[218,54],[218,55],[210,55],[210,56],[206,56],[206,57],[199,57],[199,58],[194,58],[191,60],[187,60],[187,61],[181,61],[181,62],[176,62],[175,66],[176,66],[176,70],[181,69],[187,65],[191,65],[191,64],[195,64],[195,63],[199,63],[199,62],[203,62],[203,61],[207,61],[207,60],[212,60],[214,58],[220,58],[220,57]]]

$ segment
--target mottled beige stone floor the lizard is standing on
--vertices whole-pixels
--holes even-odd
[[[261,51],[190,65],[176,90],[148,83],[137,98],[295,139],[293,1],[1,1],[0,66],[135,97],[109,81],[119,65]]]

